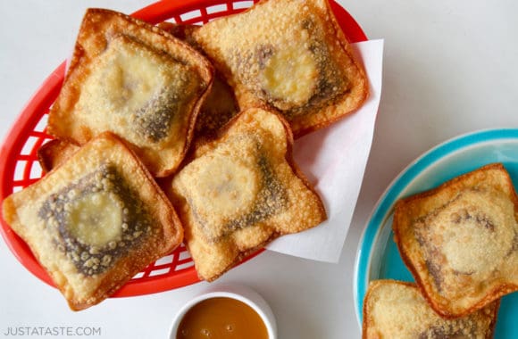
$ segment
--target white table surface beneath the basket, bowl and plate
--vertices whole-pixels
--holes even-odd
[[[70,53],[87,7],[133,12],[146,0],[0,2],[0,138]],[[481,128],[518,126],[518,2],[340,1],[368,37],[385,39],[372,153],[338,264],[264,252],[220,283],[270,303],[282,339],[357,338],[353,277],[366,219],[400,170],[430,147]],[[0,241],[0,335],[9,327],[95,327],[102,338],[164,338],[180,306],[207,284],[115,298],[81,312],[33,277]],[[18,336],[22,337],[22,336]],[[28,336],[35,337],[35,336]]]

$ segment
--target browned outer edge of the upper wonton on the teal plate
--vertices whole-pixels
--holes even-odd
[[[434,299],[433,296],[435,295],[435,293],[432,290],[432,288],[430,287],[430,285],[427,284],[425,281],[423,281],[422,277],[419,274],[419,270],[414,267],[414,263],[410,259],[409,253],[405,252],[405,248],[403,247],[402,242],[401,242],[401,232],[398,227],[399,222],[397,220],[403,218],[403,217],[401,217],[400,214],[401,214],[401,211],[404,209],[404,206],[406,203],[411,203],[414,200],[426,198],[431,195],[437,194],[440,190],[446,188],[447,186],[457,185],[458,183],[462,182],[464,180],[464,178],[469,178],[472,175],[474,175],[480,171],[483,171],[483,170],[505,170],[505,167],[500,162],[490,163],[477,170],[472,170],[472,171],[464,173],[463,175],[460,175],[456,178],[452,178],[452,179],[444,182],[440,186],[437,186],[428,191],[422,192],[421,194],[414,194],[412,196],[400,199],[397,201],[396,206],[395,206],[394,219],[392,222],[392,231],[394,232],[394,241],[397,244],[399,253],[401,254],[401,259],[405,263],[406,268],[410,271],[410,273],[414,277],[416,284],[418,285],[419,289],[421,290],[422,295],[424,296],[426,301],[430,304],[430,307],[433,310],[435,310],[442,318],[464,317],[464,316],[472,313],[475,310],[480,310],[481,308],[483,308],[490,302],[497,300],[498,298],[500,298],[501,296],[503,296],[505,294],[510,294],[514,291],[517,291],[518,285],[514,285],[514,284],[499,285],[499,286],[493,288],[492,290],[490,290],[484,298],[480,299],[479,302],[474,303],[470,308],[468,308],[462,312],[459,312],[459,313],[455,313],[452,310],[443,308],[439,304],[439,302],[436,302],[436,300]],[[507,173],[506,170],[505,170],[505,173]],[[514,190],[514,185],[513,185],[511,178],[509,177],[508,174],[506,177],[507,177],[507,185],[509,185],[513,191],[514,213],[516,215],[516,213],[518,213],[518,198],[516,196],[516,192]]]

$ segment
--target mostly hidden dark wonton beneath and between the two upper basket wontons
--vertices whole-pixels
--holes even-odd
[[[199,29],[199,26],[177,25],[167,21],[161,22],[157,26],[194,48],[200,49],[193,37],[193,33],[196,29]],[[202,104],[196,120],[196,136],[213,136],[236,114],[238,114],[238,103],[236,103],[234,92],[220,72],[216,70],[213,87],[207,95],[205,103]]]

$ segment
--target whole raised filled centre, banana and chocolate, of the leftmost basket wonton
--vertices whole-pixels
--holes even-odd
[[[87,276],[104,272],[151,232],[146,208],[117,170],[104,167],[51,195],[38,215],[54,242]]]

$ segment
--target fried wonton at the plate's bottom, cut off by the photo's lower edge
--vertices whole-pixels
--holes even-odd
[[[415,284],[377,280],[363,300],[363,339],[493,337],[499,302],[464,318],[445,319],[435,313]]]

